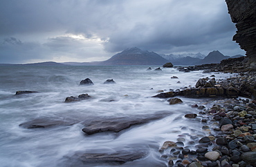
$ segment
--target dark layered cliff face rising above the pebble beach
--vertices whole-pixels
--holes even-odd
[[[256,70],[256,1],[226,0],[233,23],[237,23],[237,34],[233,37],[246,50],[247,67]]]

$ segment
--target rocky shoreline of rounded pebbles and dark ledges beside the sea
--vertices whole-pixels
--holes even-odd
[[[237,61],[235,61],[237,62]],[[232,62],[234,63],[234,62]],[[214,67],[214,68],[212,68]],[[205,65],[193,68],[180,68],[184,72],[189,70],[206,70],[204,72],[237,72],[227,70],[221,65]],[[223,67],[223,66],[222,66]],[[226,66],[228,67],[228,65]],[[229,66],[230,67],[230,66]],[[185,70],[184,70],[185,69]],[[226,70],[224,70],[226,69]],[[242,68],[237,68],[242,69]],[[243,70],[239,70],[243,71]],[[194,104],[195,112],[185,115],[194,121],[201,121],[205,136],[181,134],[177,141],[165,141],[159,152],[161,159],[167,161],[168,166],[256,166],[256,77],[255,72],[241,72],[228,79],[215,81],[214,75],[197,81],[195,87],[163,92],[154,97],[219,97],[212,99],[211,107]],[[250,99],[238,99],[237,97]],[[168,101],[172,101],[171,98]],[[170,103],[171,104],[171,103]],[[199,109],[199,110],[196,110]],[[184,127],[186,128],[186,127]],[[186,138],[190,141],[186,141]],[[185,145],[187,144],[187,145]],[[191,148],[196,148],[192,150]]]

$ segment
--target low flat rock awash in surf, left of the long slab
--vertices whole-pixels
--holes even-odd
[[[42,117],[33,119],[31,121],[26,121],[22,124],[19,124],[22,128],[51,128],[55,126],[71,126],[73,124],[77,124],[79,121],[77,119],[60,119],[53,117]]]

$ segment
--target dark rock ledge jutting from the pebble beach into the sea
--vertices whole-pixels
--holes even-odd
[[[158,98],[168,98],[175,96],[184,97],[230,97],[239,96],[256,98],[256,72],[240,73],[228,79],[215,81],[214,78],[203,78],[196,82],[192,88],[184,90],[163,92],[155,95]]]

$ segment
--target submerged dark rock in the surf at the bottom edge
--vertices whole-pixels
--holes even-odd
[[[136,149],[134,150],[110,150],[107,153],[82,153],[77,152],[75,155],[71,157],[71,159],[77,159],[84,163],[84,165],[94,166],[100,164],[125,164],[127,161],[134,161],[137,159],[141,159],[148,155],[147,150]]]

